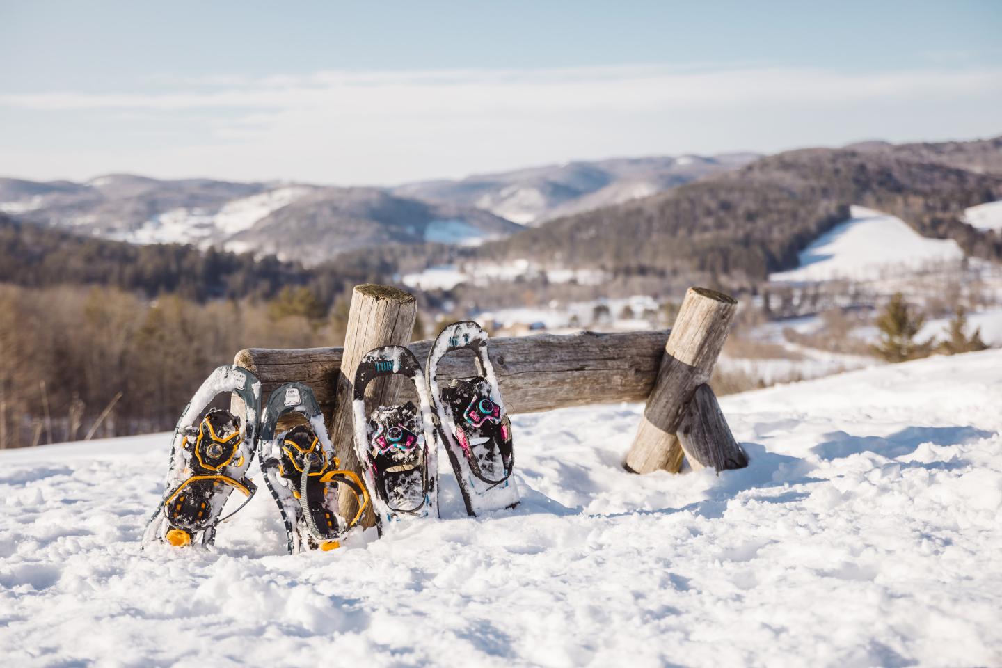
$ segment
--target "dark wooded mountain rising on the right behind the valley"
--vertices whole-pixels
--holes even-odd
[[[1002,238],[963,222],[966,207],[1002,199],[1002,176],[906,159],[894,148],[780,153],[551,220],[476,253],[619,275],[701,271],[756,281],[796,266],[800,250],[860,204],[898,215],[925,236],[954,238],[968,253],[1002,259]]]

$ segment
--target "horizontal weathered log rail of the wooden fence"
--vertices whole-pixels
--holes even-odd
[[[643,401],[654,387],[669,330],[573,335],[537,335],[491,339],[489,350],[506,410],[535,413],[572,406]],[[420,362],[428,359],[433,342],[409,348]],[[334,409],[334,387],[344,350],[247,349],[236,363],[262,382],[263,401],[283,383],[310,386],[325,415]],[[472,378],[473,357],[457,353],[439,365],[442,378]],[[415,396],[405,387],[400,400]]]

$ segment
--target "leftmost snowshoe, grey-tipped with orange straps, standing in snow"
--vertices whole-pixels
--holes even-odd
[[[225,409],[205,412],[216,396],[230,393],[243,402],[245,419]],[[198,388],[174,429],[163,499],[146,525],[142,545],[211,545],[215,528],[254,497],[246,477],[254,458],[261,383],[236,367],[219,367]],[[233,491],[242,503],[222,517]]]

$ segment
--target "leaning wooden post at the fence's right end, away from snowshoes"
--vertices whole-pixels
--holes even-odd
[[[643,474],[660,469],[678,473],[681,469],[682,457],[686,453],[683,453],[676,433],[696,389],[709,381],[736,312],[737,301],[722,292],[705,287],[690,287],[685,292],[674,326],[664,346],[657,381],[647,398],[640,428],[626,455],[627,470]],[[709,391],[708,387],[706,391]],[[715,398],[713,404],[715,405]],[[709,433],[710,436],[705,438],[712,438],[719,434],[716,419],[708,420],[711,428],[693,430],[690,427],[688,436],[698,441],[704,438],[701,435]],[[726,430],[726,423],[723,424],[723,429]],[[727,434],[729,435],[729,430]],[[737,447],[736,443],[733,447]],[[711,448],[707,446],[705,449]],[[691,453],[689,459],[696,460],[696,453]],[[706,464],[706,461],[708,460],[703,458],[702,462],[693,466],[710,466],[711,463]]]

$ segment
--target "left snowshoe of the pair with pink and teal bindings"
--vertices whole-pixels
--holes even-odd
[[[418,406],[384,406],[367,415],[366,388],[375,379],[403,376],[414,384]],[[359,363],[354,392],[355,454],[372,491],[376,522],[438,517],[438,441],[421,365],[403,346],[370,351]]]

